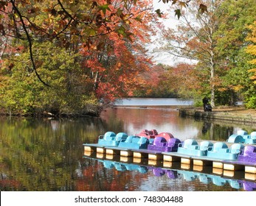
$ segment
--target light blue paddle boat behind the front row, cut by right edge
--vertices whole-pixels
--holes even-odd
[[[248,132],[244,130],[238,130],[237,134],[231,135],[227,142],[256,144],[256,132],[252,132],[249,135]]]

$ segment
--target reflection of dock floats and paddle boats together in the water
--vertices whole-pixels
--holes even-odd
[[[98,158],[100,157],[100,158]],[[212,167],[195,167],[190,165],[182,165],[181,163],[167,163],[161,161],[155,161],[156,166],[148,164],[148,160],[141,159],[139,163],[134,161],[133,157],[121,157],[119,155],[106,155],[99,154],[95,152],[86,153],[83,158],[96,160],[103,164],[106,169],[114,169],[116,171],[136,171],[141,174],[148,172],[153,173],[155,177],[166,176],[168,179],[175,180],[182,178],[182,180],[191,182],[198,181],[202,184],[210,184],[223,187],[224,185],[229,185],[229,187],[234,188],[239,191],[256,191],[256,182],[251,180],[245,180],[242,174],[232,173],[232,177],[228,177],[224,171],[219,172],[212,170]],[[107,159],[108,158],[108,159]],[[123,159],[122,159],[123,158]],[[124,161],[122,161],[124,160]],[[165,166],[171,166],[171,168],[165,168]],[[187,169],[184,169],[187,168]],[[193,169],[193,170],[191,170]],[[201,171],[196,171],[201,170]],[[215,174],[213,172],[216,172]]]

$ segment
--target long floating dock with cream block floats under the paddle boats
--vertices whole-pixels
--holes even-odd
[[[85,154],[97,152],[101,155],[120,155],[121,157],[133,157],[136,159],[148,159],[148,161],[162,160],[165,165],[175,162],[188,166],[211,166],[215,169],[225,171],[243,171],[246,174],[256,174],[255,162],[244,162],[238,160],[222,160],[210,157],[197,157],[189,154],[180,154],[178,152],[159,152],[148,149],[127,149],[118,146],[99,146],[95,144],[83,144]],[[137,160],[138,161],[138,160]]]

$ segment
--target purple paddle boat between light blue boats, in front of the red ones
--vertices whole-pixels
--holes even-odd
[[[170,138],[166,140],[162,137],[156,137],[153,143],[148,145],[148,150],[159,152],[177,152],[179,143],[181,143],[181,141],[177,138]]]

